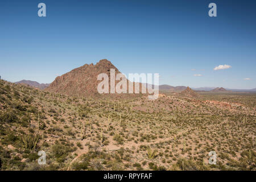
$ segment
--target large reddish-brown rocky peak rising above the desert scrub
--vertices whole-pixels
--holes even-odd
[[[118,69],[108,60],[100,60],[96,65],[85,64],[82,67],[73,69],[71,72],[58,76],[46,88],[46,91],[67,94],[69,96],[97,96],[99,95],[97,86],[102,80],[97,80],[98,75],[106,73],[109,77],[109,93],[110,93],[110,70],[115,70],[115,76]],[[125,78],[125,80],[127,80]],[[117,85],[119,81],[115,81]],[[129,86],[127,81],[127,90]],[[141,86],[141,84],[140,84]],[[140,89],[141,90],[141,89]]]

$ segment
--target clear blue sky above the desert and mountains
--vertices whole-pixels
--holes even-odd
[[[40,2],[47,17],[38,16]],[[211,2],[217,17],[208,16]],[[159,73],[160,84],[256,88],[255,8],[229,0],[1,0],[0,75],[49,83],[108,59],[125,74]],[[231,68],[213,70],[225,64]]]

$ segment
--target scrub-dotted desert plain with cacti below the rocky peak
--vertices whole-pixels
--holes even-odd
[[[71,97],[0,80],[0,94],[1,170],[255,170],[253,93]]]

